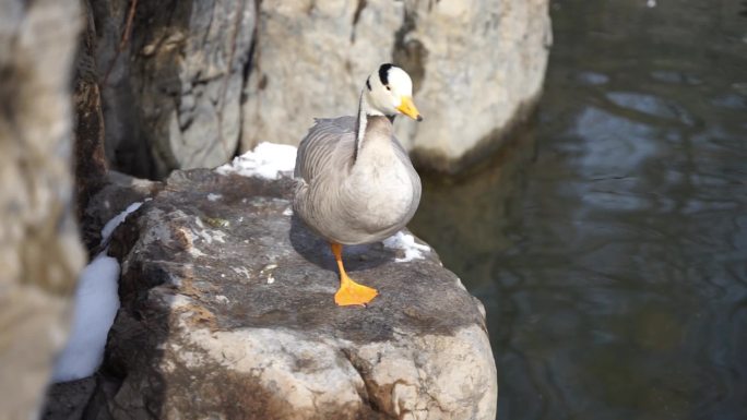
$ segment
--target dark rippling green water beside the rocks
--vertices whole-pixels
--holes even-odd
[[[564,0],[536,124],[411,228],[488,312],[498,417],[747,419],[747,3]]]

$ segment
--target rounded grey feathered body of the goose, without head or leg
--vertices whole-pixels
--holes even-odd
[[[420,202],[420,178],[392,123],[365,118],[360,144],[356,118],[340,117],[316,120],[298,147],[293,208],[330,242],[386,239],[405,227]]]

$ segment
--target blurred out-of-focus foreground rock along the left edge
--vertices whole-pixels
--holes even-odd
[[[0,2],[0,416],[38,412],[84,253],[73,220],[74,1]]]

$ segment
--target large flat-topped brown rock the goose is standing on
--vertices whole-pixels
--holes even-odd
[[[293,188],[177,171],[115,232],[111,416],[493,420],[479,302],[435,253],[396,263],[378,243],[345,257],[381,295],[335,307],[334,261],[290,215]]]

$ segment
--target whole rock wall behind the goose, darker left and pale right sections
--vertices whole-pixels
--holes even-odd
[[[239,137],[298,144],[312,118],[354,113],[382,62],[411,73],[426,118],[400,140],[456,170],[531,112],[550,44],[547,0],[92,4],[107,156],[151,178],[217,166]]]

